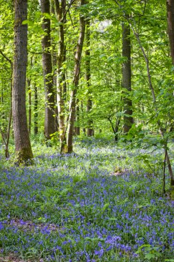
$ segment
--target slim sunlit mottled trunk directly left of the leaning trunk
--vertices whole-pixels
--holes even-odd
[[[56,6],[56,14],[58,21],[60,22],[58,27],[59,43],[58,43],[58,69],[57,69],[57,105],[58,105],[58,125],[60,133],[61,143],[61,154],[67,152],[66,145],[66,127],[65,127],[65,94],[66,94],[66,83],[65,83],[65,72],[63,69],[63,63],[66,59],[66,47],[65,47],[65,29],[62,23],[66,22],[65,7],[66,1],[54,0]]]

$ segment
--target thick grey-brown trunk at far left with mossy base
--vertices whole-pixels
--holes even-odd
[[[14,67],[12,90],[12,116],[17,164],[33,158],[25,106],[26,69],[28,62],[28,1],[14,0]]]

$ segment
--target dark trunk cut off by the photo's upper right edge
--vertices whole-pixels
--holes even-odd
[[[166,1],[168,38],[171,46],[171,58],[174,65],[174,1]]]

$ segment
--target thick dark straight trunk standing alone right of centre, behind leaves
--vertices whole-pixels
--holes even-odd
[[[122,88],[124,92],[124,134],[129,132],[133,124],[131,92],[131,39],[130,26],[122,23],[122,56],[127,61],[122,64]]]

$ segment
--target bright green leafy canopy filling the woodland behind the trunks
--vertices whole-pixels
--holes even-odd
[[[52,1],[52,7],[54,7]],[[12,59],[13,41],[13,10],[10,1],[1,5],[1,47],[0,50]],[[5,10],[5,12],[4,12]],[[107,12],[106,12],[107,10]],[[151,13],[153,10],[153,14]],[[140,46],[131,31],[131,66],[132,66],[132,92],[129,99],[133,102],[133,118],[135,125],[128,134],[127,139],[135,141],[135,137],[140,143],[149,145],[161,141],[149,141],[146,133],[157,132],[157,122],[160,120],[162,128],[166,134],[173,137],[170,131],[173,126],[173,68],[171,58],[168,54],[168,39],[166,36],[166,11],[163,1],[153,0],[148,3],[145,1],[89,1],[83,7],[78,8],[77,4],[72,5],[67,12],[67,21],[63,25],[65,28],[65,46],[67,48],[67,59],[63,64],[67,84],[67,96],[65,101],[65,115],[68,111],[69,92],[72,90],[72,76],[74,68],[74,50],[78,40],[78,16],[83,14],[90,19],[90,48],[84,46],[81,61],[80,84],[77,97],[83,105],[80,107],[80,128],[87,127],[89,119],[93,120],[93,127],[102,132],[112,132],[111,123],[116,126],[120,117],[118,136],[122,132],[122,119],[124,117],[124,98],[128,94],[122,93],[122,63],[126,61],[122,57],[122,28],[121,24],[128,23],[124,13],[132,14],[131,26],[140,35],[141,44],[148,54],[151,79],[157,97],[157,112],[151,98],[151,91],[147,83],[146,65]],[[28,24],[28,79],[30,80],[30,92],[32,94],[32,133],[34,132],[34,86],[38,87],[39,105],[37,113],[39,115],[39,132],[43,132],[44,125],[44,89],[41,62],[41,38],[43,29],[41,27],[43,16],[50,19],[52,26],[52,54],[54,59],[58,56],[58,22],[56,14],[43,14],[39,3],[30,1],[28,3],[28,20],[23,24]],[[8,29],[8,30],[7,30]],[[8,34],[7,34],[8,32]],[[90,49],[91,63],[91,87],[88,90],[85,81],[85,51]],[[165,55],[164,55],[165,54]],[[0,104],[3,127],[8,123],[10,107],[10,64],[4,57],[0,56],[1,61],[1,80],[0,88],[3,90],[4,101]],[[97,70],[96,70],[97,68]],[[54,65],[54,72],[56,66]],[[3,81],[3,79],[5,79]],[[55,87],[56,90],[56,87]],[[86,112],[87,99],[92,100],[93,107],[90,112]],[[80,104],[79,103],[79,104]],[[27,99],[28,105],[28,99]],[[105,109],[104,109],[105,108]],[[108,121],[111,120],[111,123]],[[78,123],[78,124],[79,124]],[[121,141],[124,141],[122,138]],[[56,143],[56,136],[54,139]],[[162,143],[161,143],[162,145]]]

